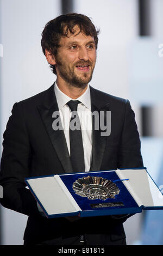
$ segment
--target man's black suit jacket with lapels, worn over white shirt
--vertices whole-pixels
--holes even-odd
[[[111,111],[111,134],[92,132],[91,171],[142,167],[140,139],[134,112],[128,100],[90,87],[91,111]],[[0,184],[4,207],[29,215],[24,239],[39,243],[54,237],[80,234],[110,234],[122,239],[122,222],[111,216],[86,217],[70,222],[66,218],[41,217],[36,201],[24,184],[29,176],[71,173],[64,131],[52,129],[52,113],[58,111],[54,85],[27,100],[15,103],[4,132]]]

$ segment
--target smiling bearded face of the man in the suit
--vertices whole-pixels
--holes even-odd
[[[94,38],[78,31],[62,37],[55,62],[58,78],[74,87],[86,85],[91,81],[96,63]]]

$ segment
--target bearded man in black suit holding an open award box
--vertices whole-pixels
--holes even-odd
[[[122,223],[129,216],[48,220],[24,184],[24,178],[29,176],[75,172],[83,161],[84,168],[79,167],[83,172],[143,166],[139,133],[129,101],[88,84],[96,63],[97,35],[90,19],[80,14],[61,15],[47,23],[41,45],[57,81],[45,92],[15,103],[4,132],[1,203],[29,216],[25,245],[81,245],[83,241],[86,245],[126,244]],[[95,111],[99,115],[111,111],[111,133],[106,136],[102,136],[101,126],[95,129],[95,122],[89,118],[92,129],[85,133],[82,129],[83,151],[77,152],[80,156],[75,167],[72,155],[76,152],[73,153],[70,133],[64,126],[67,113],[72,111],[68,102],[74,100],[78,100],[81,127],[81,113],[91,117]],[[63,129],[53,126],[56,112]]]

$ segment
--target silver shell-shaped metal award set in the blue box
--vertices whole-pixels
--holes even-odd
[[[90,200],[115,198],[115,195],[120,193],[114,182],[97,176],[80,178],[73,182],[72,187],[76,194]]]

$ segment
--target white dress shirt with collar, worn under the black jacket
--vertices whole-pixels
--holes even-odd
[[[54,92],[57,98],[60,118],[62,127],[64,129],[67,148],[70,152],[70,135],[69,135],[69,126],[71,119],[71,110],[66,105],[66,103],[71,99],[66,94],[62,93],[58,88],[57,83],[54,84]],[[82,96],[78,97],[81,103],[78,104],[78,115],[80,119],[80,125],[82,130],[82,139],[83,139],[83,148],[84,148],[84,162],[85,162],[85,172],[89,172],[92,159],[92,112],[91,112],[91,96],[90,96],[90,87],[87,86],[87,89]]]

